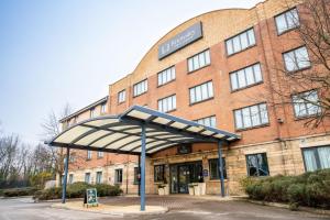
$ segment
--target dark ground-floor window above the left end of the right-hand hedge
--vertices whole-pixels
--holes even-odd
[[[246,155],[249,176],[268,176],[268,162],[266,153]]]

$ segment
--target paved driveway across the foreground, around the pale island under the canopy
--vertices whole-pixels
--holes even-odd
[[[102,204],[128,206],[138,205],[138,197],[112,197],[100,199]],[[245,201],[217,201],[189,197],[158,197],[148,196],[146,204],[150,206],[166,206],[169,211],[156,216],[119,217],[85,211],[73,211],[51,208],[53,202],[34,204],[31,198],[0,199],[1,220],[89,220],[89,219],[130,219],[130,220],[180,220],[180,219],[223,219],[223,220],[309,220],[330,219],[322,215],[254,205]]]

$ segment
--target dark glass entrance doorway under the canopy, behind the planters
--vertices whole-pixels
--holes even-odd
[[[170,194],[188,194],[189,184],[201,183],[202,164],[201,162],[173,164],[169,166]]]

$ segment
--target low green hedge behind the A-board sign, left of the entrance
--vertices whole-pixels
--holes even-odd
[[[66,195],[67,198],[82,198],[87,188],[97,188],[98,196],[119,196],[122,190],[119,186],[111,186],[106,184],[89,185],[84,182],[77,182],[68,185]],[[50,189],[38,190],[34,194],[34,199],[50,200],[62,198],[62,187],[54,187]]]

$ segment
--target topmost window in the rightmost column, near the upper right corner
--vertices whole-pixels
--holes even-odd
[[[292,9],[275,16],[277,34],[299,26],[299,16],[297,9]]]

